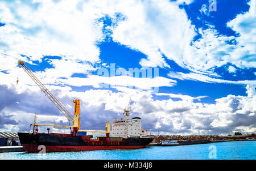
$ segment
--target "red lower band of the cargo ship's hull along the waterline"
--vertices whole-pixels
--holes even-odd
[[[36,145],[22,144],[27,152],[39,152],[42,148]],[[108,149],[138,149],[146,146],[45,146],[46,152],[92,151]]]

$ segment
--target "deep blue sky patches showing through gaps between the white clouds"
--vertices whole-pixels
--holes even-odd
[[[208,2],[204,1],[193,1],[193,3],[189,5],[180,5],[180,8],[184,8],[188,19],[191,20],[192,24],[195,24],[196,28],[209,28],[210,25],[214,25],[214,28],[221,35],[226,36],[235,36],[238,35],[232,29],[226,27],[226,23],[229,20],[236,18],[237,14],[241,14],[242,12],[246,12],[249,10],[249,5],[246,1],[217,1],[217,11],[209,12],[208,15],[201,14],[201,7],[206,4],[210,5]],[[198,19],[200,18],[200,19]],[[111,26],[113,23],[109,16],[105,16],[104,18],[99,19],[104,23],[104,28],[108,25]],[[194,41],[197,40],[198,37],[194,37]],[[141,69],[141,65],[139,61],[142,58],[146,58],[146,55],[139,52],[138,50],[130,49],[125,45],[119,44],[118,42],[113,42],[111,36],[107,36],[104,41],[99,42],[97,44],[98,48],[100,48],[100,59],[102,62],[106,63],[115,63],[118,67],[123,67],[128,70],[129,68],[139,68]],[[164,54],[163,54],[164,56]],[[52,58],[52,57],[46,57]],[[58,57],[55,57],[58,58]],[[59,57],[61,58],[61,57]],[[35,71],[44,71],[46,68],[51,68],[48,62],[39,63],[35,61],[34,63],[40,66],[31,66]],[[172,71],[181,71],[181,72],[189,72],[189,70],[183,69],[172,60],[167,59],[168,65],[170,65]],[[230,63],[223,65],[221,67],[215,67],[214,72],[221,75],[223,79],[226,80],[255,80],[256,68],[248,68],[248,69],[239,69],[236,71],[236,76],[234,74],[229,73],[227,67],[229,67]],[[236,66],[234,66],[236,67]],[[168,69],[160,68],[159,76],[167,77]],[[84,74],[77,74],[77,77],[86,77]],[[166,93],[181,93],[183,95],[189,96],[209,96],[202,99],[202,102],[214,103],[215,99],[220,97],[224,97],[227,95],[246,95],[246,89],[244,85],[236,85],[236,84],[220,84],[220,83],[202,83],[198,81],[191,80],[177,80],[178,83],[175,87],[160,87],[159,92]],[[189,86],[188,86],[189,85]],[[193,87],[193,88],[192,88]],[[76,87],[72,87],[73,89],[77,89]],[[82,87],[80,91],[84,91],[84,89],[88,89],[92,87]],[[155,97],[156,99],[164,99],[164,97]]]

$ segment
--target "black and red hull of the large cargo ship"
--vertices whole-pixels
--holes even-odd
[[[138,149],[146,147],[152,138],[127,138],[122,141],[90,140],[89,136],[70,134],[30,134],[18,132],[19,140],[27,152],[69,152],[109,149]]]

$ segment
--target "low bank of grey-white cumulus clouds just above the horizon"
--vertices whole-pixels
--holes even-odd
[[[252,86],[246,86],[246,89],[247,96],[228,95],[216,99],[215,104],[193,101],[204,96],[191,97],[168,93],[159,93],[156,96],[168,95],[170,99],[154,100],[150,91],[140,89],[131,89],[130,91],[130,88],[125,87],[119,87],[119,92],[101,89],[90,89],[84,92],[62,91],[56,97],[60,101],[64,101],[64,105],[71,112],[73,110],[72,101],[65,101],[65,96],[81,100],[81,127],[101,123],[95,129],[104,129],[104,122],[121,117],[118,116],[118,113],[121,113],[123,108],[130,103],[131,117],[141,117],[143,127],[151,132],[160,130],[166,134],[228,134],[237,131],[238,127],[241,132],[255,131],[256,92]],[[9,103],[2,107],[0,112],[0,116],[4,117],[8,113],[10,116],[8,119],[19,123],[19,125],[12,125],[13,130],[20,131],[19,126],[26,124],[28,129],[28,125],[33,121],[35,111],[38,111],[41,116],[39,122],[68,125],[67,119],[61,115],[49,99],[42,96],[40,91],[29,93],[26,90],[14,97],[7,96],[12,93],[15,95],[15,91],[15,88],[6,91],[5,100]],[[179,97],[180,100],[174,101],[172,97]],[[12,98],[13,100],[11,100]],[[7,129],[6,125],[4,129]],[[61,130],[56,129],[55,131]]]

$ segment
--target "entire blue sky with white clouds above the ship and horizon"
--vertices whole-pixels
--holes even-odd
[[[209,131],[213,134],[216,127],[222,127],[222,133],[255,130],[253,124],[236,125],[232,116],[246,113],[246,119],[255,119],[253,1],[216,0],[217,11],[208,10],[207,0],[106,1],[102,4],[97,1],[2,1],[0,5],[0,76],[5,80],[1,86],[7,86],[6,93],[11,90],[16,95],[27,95],[26,92],[31,91],[33,83],[16,65],[21,59],[44,84],[53,91],[57,89],[56,96],[69,110],[73,104],[68,104],[64,96],[84,102],[88,107],[84,108],[85,125],[97,121],[88,113],[104,110],[100,120],[113,119],[124,104],[132,101],[134,113],[144,117],[143,124],[152,131],[195,134],[193,130],[196,130],[200,134]],[[51,5],[54,8],[47,13]],[[141,74],[131,80],[127,75],[103,78],[98,74],[102,68],[110,73],[113,64],[115,69],[126,71],[138,68],[152,69],[154,73],[158,68],[159,72],[152,79],[143,78]],[[20,87],[12,82],[17,76]],[[104,88],[101,83],[115,86]],[[152,92],[155,87],[158,91]],[[38,94],[31,98],[40,95],[36,88],[33,91]],[[90,93],[97,96],[96,104],[86,97]],[[122,102],[109,104],[115,96]],[[16,102],[20,103],[22,99],[17,98]],[[47,104],[51,106],[51,102]],[[220,106],[227,109],[210,112]],[[3,105],[2,117],[11,116],[16,124],[18,121],[11,109]],[[19,110],[34,113],[35,109],[36,106]],[[42,113],[49,114],[43,110]],[[110,116],[106,116],[108,113]],[[222,113],[226,113],[225,117]],[[191,119],[187,114],[194,117]],[[148,119],[150,116],[152,119]],[[200,122],[202,117],[209,119]],[[6,126],[3,124],[0,129],[5,130]],[[12,129],[19,130],[19,126]]]

